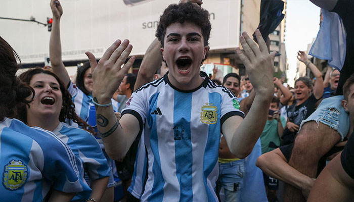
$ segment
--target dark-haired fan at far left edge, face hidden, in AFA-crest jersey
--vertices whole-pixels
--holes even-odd
[[[89,196],[82,164],[53,133],[17,119],[17,105],[29,106],[34,90],[16,78],[20,65],[0,37],[0,176],[2,201],[70,201],[75,192]],[[47,196],[52,188],[52,193]]]

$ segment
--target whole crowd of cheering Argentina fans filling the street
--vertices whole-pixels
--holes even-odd
[[[292,88],[273,76],[259,30],[258,45],[244,32],[236,49],[246,77],[200,72],[211,30],[200,0],[166,8],[137,75],[125,39],[99,61],[86,52],[71,80],[51,0],[52,67],[16,77],[20,59],[0,37],[2,200],[351,201],[354,3],[312,2],[342,19],[346,58],[321,72],[299,51],[315,79]]]

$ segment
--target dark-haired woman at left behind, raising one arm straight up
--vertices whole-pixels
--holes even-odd
[[[53,25],[51,38],[49,43],[49,57],[52,63],[53,73],[55,73],[67,86],[68,91],[72,96],[75,104],[76,114],[85,122],[89,121],[90,108],[94,106],[92,102],[93,79],[91,73],[91,66],[89,62],[84,63],[82,67],[78,68],[76,77],[76,86],[70,81],[68,72],[65,69],[62,61],[61,41],[60,41],[60,19],[63,14],[63,8],[59,1],[51,0],[50,3],[53,13]],[[112,99],[113,100],[113,99]],[[113,100],[115,102],[115,100]],[[114,109],[114,108],[113,108]],[[117,111],[117,109],[115,109]],[[72,126],[77,126],[75,123]],[[101,140],[100,140],[101,141]],[[101,144],[103,147],[103,143]],[[107,190],[102,197],[102,201],[114,200],[114,177],[113,170],[115,164],[104,151],[104,155],[111,168]]]

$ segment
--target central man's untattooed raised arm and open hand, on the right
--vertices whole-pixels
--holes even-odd
[[[269,54],[259,30],[256,30],[255,33],[259,47],[244,32],[240,37],[244,53],[241,52],[240,48],[236,49],[246,67],[255,92],[252,107],[243,121],[239,116],[232,116],[222,126],[222,132],[228,142],[230,151],[238,158],[247,157],[261,135],[274,93],[272,61],[275,52]]]

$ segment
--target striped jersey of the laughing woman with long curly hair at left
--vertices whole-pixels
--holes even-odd
[[[110,168],[95,137],[89,132],[60,122],[53,131],[64,143],[68,144],[74,155],[81,160],[84,171],[91,180],[109,177]],[[77,193],[71,201],[85,198]]]

